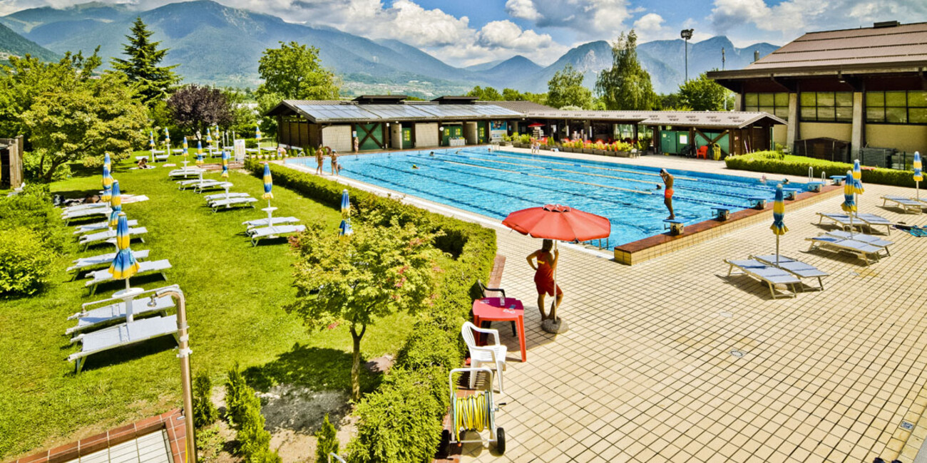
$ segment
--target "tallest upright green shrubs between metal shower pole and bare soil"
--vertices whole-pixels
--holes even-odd
[[[238,430],[235,440],[240,445],[247,463],[280,463],[280,456],[271,450],[271,433],[264,429],[260,414],[260,399],[248,387],[238,369],[238,363],[229,370],[225,380],[226,418]]]

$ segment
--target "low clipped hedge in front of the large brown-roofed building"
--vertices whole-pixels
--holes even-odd
[[[752,170],[783,175],[806,177],[808,168],[814,169],[814,176],[820,178],[821,172],[828,176],[843,175],[853,169],[853,164],[815,159],[806,156],[781,156],[775,151],[760,151],[742,156],[728,156],[724,159],[728,169]],[[898,169],[862,169],[863,183],[906,186],[914,188],[914,172]]]

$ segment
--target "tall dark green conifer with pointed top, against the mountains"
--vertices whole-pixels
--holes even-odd
[[[128,44],[122,45],[126,59],[114,57],[113,69],[119,70],[136,86],[138,94],[146,105],[163,100],[171,93],[180,78],[173,72],[179,65],[159,66],[167,56],[168,49],[158,49],[160,42],[152,42],[153,31],[148,31],[141,18],[135,18],[132,33],[126,35]]]

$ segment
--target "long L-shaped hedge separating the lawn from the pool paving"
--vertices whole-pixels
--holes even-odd
[[[248,159],[245,169],[260,177],[260,164]],[[435,245],[454,260],[443,269],[436,303],[415,323],[380,388],[358,405],[358,434],[348,445],[351,462],[430,461],[448,411],[448,373],[464,361],[461,326],[479,296],[476,280],[485,281],[492,269],[496,232],[296,169],[271,164],[271,174],[274,185],[333,208],[341,206],[341,192],[347,189],[354,219],[386,224],[395,217],[444,233]]]

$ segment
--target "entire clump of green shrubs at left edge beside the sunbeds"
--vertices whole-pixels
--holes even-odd
[[[0,295],[41,290],[55,257],[70,242],[47,185],[0,197]]]

